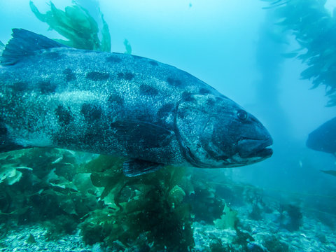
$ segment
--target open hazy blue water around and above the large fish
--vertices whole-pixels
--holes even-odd
[[[45,1],[34,1],[42,12]],[[57,8],[71,1],[54,1]],[[300,79],[307,67],[299,59],[285,59],[299,45],[289,33],[273,25],[272,10],[256,0],[81,0],[94,18],[99,10],[111,31],[113,52],[156,59],[188,71],[253,113],[274,139],[274,155],[248,167],[207,169],[216,183],[232,179],[262,188],[275,202],[293,204],[311,213],[336,217],[336,177],[321,170],[336,169],[335,156],[305,146],[308,134],[336,115],[326,107],[324,86],[310,90]],[[332,11],[335,1],[327,1]],[[37,20],[29,1],[0,1],[0,41],[10,39],[12,28],[24,28],[50,38],[61,38]],[[280,42],[279,42],[280,41]],[[283,43],[281,43],[281,41]],[[336,55],[335,55],[336,57]],[[1,85],[1,83],[0,83]]]

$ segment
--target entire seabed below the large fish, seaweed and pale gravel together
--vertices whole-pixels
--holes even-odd
[[[3,154],[0,169],[0,251],[336,251],[317,201],[220,171],[130,179],[116,158],[59,149]]]

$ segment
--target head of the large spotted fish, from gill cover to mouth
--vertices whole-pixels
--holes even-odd
[[[227,97],[194,94],[177,108],[176,135],[195,167],[239,167],[272,155],[266,128]]]

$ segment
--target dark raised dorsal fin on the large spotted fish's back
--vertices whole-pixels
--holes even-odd
[[[2,65],[13,65],[22,57],[33,55],[36,50],[66,47],[66,45],[25,29],[13,29],[12,31],[12,38],[2,52]]]

